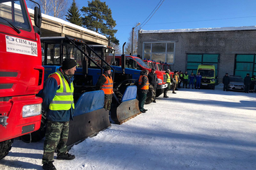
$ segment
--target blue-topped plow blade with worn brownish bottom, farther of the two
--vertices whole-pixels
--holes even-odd
[[[137,86],[128,86],[123,93],[121,104],[114,104],[111,108],[111,118],[116,124],[122,124],[139,115],[139,101],[136,99]]]

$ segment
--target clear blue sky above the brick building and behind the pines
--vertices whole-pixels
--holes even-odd
[[[89,0],[91,1],[91,0]],[[163,0],[162,0],[163,1]],[[120,45],[128,41],[138,22],[143,23],[160,0],[106,0],[116,21]],[[78,8],[87,1],[76,0]],[[165,0],[143,30],[256,26],[255,0]]]

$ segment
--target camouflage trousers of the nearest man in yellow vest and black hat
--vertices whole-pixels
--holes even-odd
[[[67,138],[69,137],[69,122],[51,122],[48,120],[44,140],[44,154],[42,163],[53,161],[54,152],[67,152]]]

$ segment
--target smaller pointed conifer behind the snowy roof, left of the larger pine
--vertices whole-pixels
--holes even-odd
[[[69,21],[71,23],[74,23],[78,26],[83,25],[83,21],[82,21],[82,18],[80,17],[80,13],[79,13],[79,10],[76,6],[76,1],[75,0],[73,0],[73,2],[71,4],[71,7],[67,11],[66,19],[67,19],[67,21]]]

